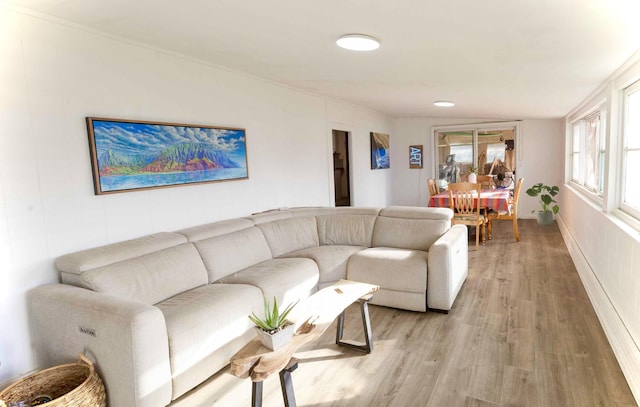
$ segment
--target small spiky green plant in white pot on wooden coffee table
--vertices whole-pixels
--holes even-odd
[[[256,325],[256,332],[262,344],[276,350],[291,340],[293,336],[294,324],[287,320],[287,316],[298,304],[299,300],[289,304],[284,311],[278,308],[278,301],[273,297],[273,306],[264,298],[264,318],[258,317],[255,313],[249,315],[249,319]]]

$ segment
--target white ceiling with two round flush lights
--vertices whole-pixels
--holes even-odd
[[[639,0],[5,2],[396,117],[561,117],[640,49]]]

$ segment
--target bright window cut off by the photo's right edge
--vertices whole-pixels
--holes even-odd
[[[640,81],[624,90],[622,196],[620,207],[640,218]]]

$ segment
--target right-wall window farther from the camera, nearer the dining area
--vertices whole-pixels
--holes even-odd
[[[571,180],[596,195],[604,190],[604,112],[596,110],[572,126]]]

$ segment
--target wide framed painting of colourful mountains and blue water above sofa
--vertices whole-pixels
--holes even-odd
[[[96,195],[246,179],[245,130],[87,117]]]

